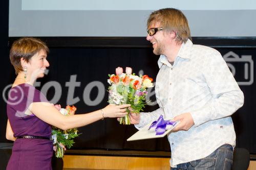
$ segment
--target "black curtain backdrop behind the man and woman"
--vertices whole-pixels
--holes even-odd
[[[1,83],[0,89],[3,92],[5,87],[11,84],[15,79],[15,72],[9,61],[8,47],[8,1],[1,1],[1,38],[0,38],[0,54],[1,54]],[[211,39],[208,39],[210,42]],[[100,43],[100,42],[99,42]],[[199,42],[200,43],[200,42]],[[108,46],[108,45],[107,45]],[[255,46],[252,48],[217,48],[222,55],[232,51],[238,56],[251,55],[252,60],[256,56]],[[50,67],[48,75],[41,82],[40,90],[49,81],[56,81],[61,85],[61,98],[59,104],[65,106],[67,104],[68,87],[66,82],[70,81],[72,75],[76,75],[76,82],[80,82],[80,86],[74,90],[74,98],[78,97],[79,102],[74,104],[78,110],[77,113],[91,112],[107,105],[108,93],[104,92],[103,100],[96,106],[89,106],[83,101],[83,91],[92,81],[102,82],[105,90],[108,87],[106,80],[108,74],[114,74],[117,66],[131,66],[136,74],[140,70],[144,74],[156,78],[158,72],[157,60],[158,56],[152,53],[151,47],[50,47],[48,56]],[[236,68],[236,80],[248,81],[244,77],[244,62],[233,62]],[[247,64],[248,66],[248,64]],[[253,66],[253,62],[249,63],[249,68]],[[253,72],[249,73],[249,77]],[[256,117],[255,117],[255,85],[240,86],[245,95],[244,106],[232,115],[234,126],[237,133],[237,145],[240,148],[246,148],[251,154],[256,154]],[[48,100],[54,96],[55,89],[49,88],[47,93]],[[86,93],[94,100],[98,95],[98,89]],[[101,92],[103,93],[103,92]],[[6,93],[3,95],[6,96]],[[155,101],[155,96],[151,97]],[[0,98],[1,118],[0,118],[0,142],[9,142],[5,139],[6,130],[6,103],[3,97]],[[157,106],[148,106],[145,111],[153,111]],[[144,151],[169,151],[169,143],[167,138],[149,139],[127,142],[126,139],[134,134],[137,129],[134,126],[119,125],[116,119],[106,118],[86,127],[79,128],[82,133],[76,140],[74,149],[115,149],[115,150],[144,150]]]

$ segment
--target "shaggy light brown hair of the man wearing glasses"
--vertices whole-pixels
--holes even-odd
[[[152,12],[147,19],[147,29],[156,22],[160,22],[164,31],[175,32],[178,43],[191,40],[187,18],[180,10],[165,8]]]

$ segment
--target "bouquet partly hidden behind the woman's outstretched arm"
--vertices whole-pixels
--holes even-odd
[[[60,107],[60,105],[55,105],[55,107],[59,110],[59,112],[65,116],[74,115],[76,111],[75,106],[66,106],[66,109]],[[52,139],[53,145],[56,149],[55,156],[57,158],[62,158],[65,153],[65,147],[70,149],[72,145],[75,143],[73,138],[77,137],[78,130],[76,128],[61,130],[56,127],[52,127]],[[54,150],[55,150],[54,149]]]

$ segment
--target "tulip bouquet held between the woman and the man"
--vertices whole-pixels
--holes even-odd
[[[146,104],[146,89],[153,86],[153,79],[147,75],[136,76],[132,68],[116,68],[116,75],[109,75],[109,103],[115,105],[131,104],[135,113],[143,111]],[[128,110],[129,111],[129,110]],[[120,118],[120,124],[130,125],[129,115]]]

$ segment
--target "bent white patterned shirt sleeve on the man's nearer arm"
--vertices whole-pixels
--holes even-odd
[[[230,116],[244,104],[244,95],[221,54],[213,50],[205,56],[203,76],[211,92],[205,106],[191,111],[195,126]]]

